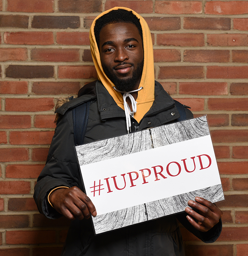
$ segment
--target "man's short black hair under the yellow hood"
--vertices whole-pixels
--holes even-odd
[[[107,24],[119,23],[119,22],[133,23],[138,28],[139,34],[142,38],[142,44],[143,44],[143,35],[142,35],[142,28],[140,25],[140,19],[138,19],[138,17],[135,16],[132,11],[128,11],[125,9],[117,9],[117,10],[112,10],[106,13],[105,15],[101,16],[99,19],[96,20],[94,33],[95,33],[98,48],[100,43],[99,34],[101,29]]]

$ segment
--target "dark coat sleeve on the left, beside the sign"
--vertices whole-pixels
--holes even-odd
[[[34,200],[40,213],[49,219],[61,217],[50,206],[47,196],[54,188],[77,186],[82,188],[80,172],[74,148],[70,110],[58,119],[50,145],[46,165],[41,171],[34,189]],[[70,125],[71,124],[71,125]]]

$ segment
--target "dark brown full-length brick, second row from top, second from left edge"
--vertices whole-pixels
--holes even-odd
[[[34,16],[32,28],[79,28],[79,16]]]

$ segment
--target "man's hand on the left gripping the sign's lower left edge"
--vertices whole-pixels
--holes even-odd
[[[54,208],[69,220],[90,218],[97,215],[96,208],[91,199],[79,188],[57,189],[51,193],[49,200]]]

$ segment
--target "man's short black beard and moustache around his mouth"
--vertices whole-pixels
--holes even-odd
[[[131,64],[133,66],[133,63],[128,63],[128,62],[122,62],[119,65],[125,65],[125,64]],[[118,78],[116,75],[111,73],[110,69],[107,68],[106,66],[103,66],[103,70],[106,76],[111,80],[111,82],[113,82],[113,84],[119,91],[128,92],[128,91],[134,90],[138,80],[141,78],[143,65],[144,65],[144,60],[142,60],[137,64],[137,68],[133,71],[132,77],[130,78]]]

